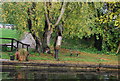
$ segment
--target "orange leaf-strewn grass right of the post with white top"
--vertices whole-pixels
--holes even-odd
[[[80,62],[94,62],[94,63],[101,63],[101,62],[118,62],[118,56],[113,55],[103,55],[103,54],[90,54],[80,52],[79,56],[77,57],[75,54],[70,56],[70,53],[62,52],[59,54],[60,59],[63,61],[80,61]]]

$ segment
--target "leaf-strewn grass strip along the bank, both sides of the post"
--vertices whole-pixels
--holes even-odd
[[[66,53],[64,49],[61,49],[59,53],[59,62],[67,62],[67,63],[87,63],[87,64],[118,64],[118,56],[113,55],[102,55],[102,54],[89,54],[80,52],[79,56],[70,56],[70,50]],[[9,52],[2,52],[2,59],[9,59]],[[38,53],[30,53],[29,60],[41,62],[45,61],[47,63],[53,62],[56,63],[54,56],[51,54],[38,54]]]

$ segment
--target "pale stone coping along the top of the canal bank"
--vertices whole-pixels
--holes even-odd
[[[108,69],[120,69],[120,65],[105,65],[105,64],[72,64],[72,63],[49,63],[46,62],[36,62],[36,61],[1,61],[0,65],[13,65],[13,66],[21,66],[21,67],[76,67],[76,68],[108,68]]]

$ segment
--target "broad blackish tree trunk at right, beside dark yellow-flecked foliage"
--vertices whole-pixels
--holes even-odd
[[[97,39],[96,37],[97,35],[95,34],[95,43],[94,43],[94,47],[98,50],[101,51],[102,50],[102,36],[100,36],[100,34],[98,35],[99,39]]]

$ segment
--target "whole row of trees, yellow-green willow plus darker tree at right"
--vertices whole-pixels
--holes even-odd
[[[51,35],[56,37],[60,32],[64,38],[94,38],[93,47],[99,51],[114,52],[118,48],[118,2],[14,2],[4,3],[2,8],[5,23],[32,33],[37,51],[42,48],[44,52],[50,46]]]

